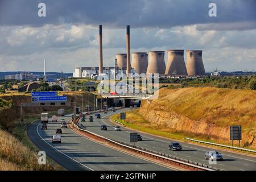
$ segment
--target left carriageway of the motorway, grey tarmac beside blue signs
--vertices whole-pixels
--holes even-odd
[[[62,118],[65,121],[71,119],[69,116],[58,117],[58,121]],[[94,142],[69,128],[63,129],[61,143],[52,144],[51,137],[55,134],[55,129],[60,128],[60,122],[49,122],[47,126],[47,130],[42,130],[39,121],[32,123],[27,130],[28,137],[40,150],[68,170],[174,170]]]

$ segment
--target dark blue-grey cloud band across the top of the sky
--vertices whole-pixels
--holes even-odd
[[[46,18],[38,17],[40,2],[46,3]],[[208,16],[210,2],[217,4],[217,17]],[[255,0],[1,0],[0,25],[85,23],[113,28],[126,24],[170,28],[189,24],[253,22],[255,10]],[[236,26],[233,28],[236,30]]]

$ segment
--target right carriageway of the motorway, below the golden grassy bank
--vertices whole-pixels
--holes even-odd
[[[93,117],[93,122],[88,122],[88,116],[86,116],[85,122],[81,122],[82,125],[86,126],[86,130],[92,131],[93,133],[99,134],[101,136],[115,139],[118,141],[130,142],[130,133],[134,130],[128,129],[127,127],[121,127],[121,131],[114,131],[115,123],[111,122],[109,117],[110,115],[120,113],[123,111],[129,110],[121,109],[117,110],[115,113],[109,111],[107,114],[101,114],[101,119]],[[107,125],[108,131],[100,130],[101,125]],[[217,150],[223,155],[223,161],[217,161],[217,164],[210,165],[208,160],[204,159],[204,154],[206,151],[214,150],[212,147],[199,146],[197,144],[183,143],[180,142],[183,146],[183,151],[169,151],[168,143],[171,139],[166,139],[162,137],[155,137],[150,134],[139,133],[142,135],[143,140],[138,141],[135,145],[148,148],[150,150],[163,152],[165,154],[177,156],[179,158],[193,160],[194,162],[199,162],[202,164],[207,164],[209,166],[218,167],[226,170],[256,170],[256,158],[254,156],[248,156],[246,154],[238,154],[235,152],[229,152],[225,150]]]

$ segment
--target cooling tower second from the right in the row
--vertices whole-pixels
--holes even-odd
[[[165,75],[188,75],[184,62],[184,50],[168,50]]]

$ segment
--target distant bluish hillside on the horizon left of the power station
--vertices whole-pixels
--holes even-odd
[[[5,78],[6,75],[15,75],[15,74],[19,74],[22,73],[20,72],[0,72],[0,79]],[[44,73],[43,72],[30,72],[33,75],[39,76],[39,77],[43,77]],[[59,78],[61,76],[61,73],[59,72],[46,72],[46,76],[47,78]],[[73,76],[73,73],[63,73],[63,77],[67,78],[69,76]]]

